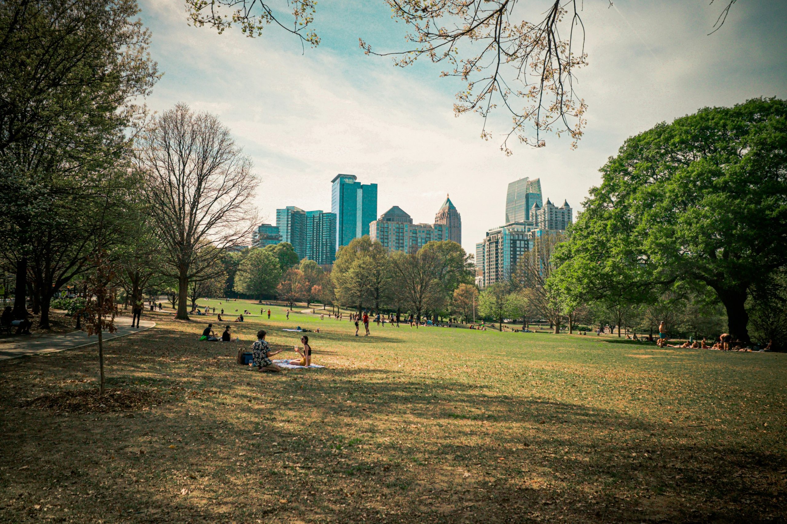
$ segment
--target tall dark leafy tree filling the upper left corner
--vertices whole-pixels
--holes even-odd
[[[40,324],[52,292],[119,236],[128,170],[125,132],[158,78],[130,0],[0,3],[0,248],[26,279]]]

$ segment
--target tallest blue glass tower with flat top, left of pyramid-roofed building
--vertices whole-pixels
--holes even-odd
[[[331,180],[331,212],[336,215],[336,247],[369,234],[377,218],[377,184],[361,184],[354,174],[337,174]]]

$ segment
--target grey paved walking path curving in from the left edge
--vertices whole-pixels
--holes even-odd
[[[103,339],[111,340],[119,336],[128,335],[153,328],[153,321],[140,321],[140,328],[131,328],[131,321],[127,317],[116,317],[117,331],[104,332]],[[25,355],[57,353],[58,351],[72,350],[75,347],[87,346],[98,343],[98,336],[87,336],[87,332],[71,332],[65,335],[20,335],[12,339],[0,340],[0,360],[7,358],[24,357]]]

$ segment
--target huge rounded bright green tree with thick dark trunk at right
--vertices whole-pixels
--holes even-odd
[[[785,101],[758,98],[629,138],[573,228],[578,285],[620,273],[634,302],[675,282],[707,285],[748,343],[748,291],[787,264],[785,117]]]

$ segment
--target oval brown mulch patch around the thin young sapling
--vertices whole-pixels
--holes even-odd
[[[98,388],[66,390],[44,394],[24,402],[24,407],[52,412],[109,413],[140,411],[161,404],[163,399],[153,391],[135,389],[107,389],[103,395]]]

